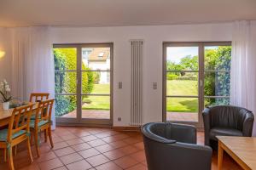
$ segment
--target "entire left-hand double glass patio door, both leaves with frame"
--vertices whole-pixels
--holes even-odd
[[[113,44],[54,45],[57,123],[112,124]]]

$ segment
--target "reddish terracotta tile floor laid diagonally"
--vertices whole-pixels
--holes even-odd
[[[44,135],[42,135],[43,137]],[[143,138],[136,132],[116,132],[110,128],[98,127],[57,127],[53,132],[55,148],[42,138],[41,156],[36,157],[32,147],[32,164],[26,145],[20,144],[15,156],[15,168],[21,170],[145,170],[146,158]],[[203,133],[198,133],[198,144],[203,144]],[[184,160],[185,162],[186,160]],[[8,169],[0,150],[0,169]],[[217,169],[217,153],[212,156],[212,170]],[[224,155],[224,170],[239,170],[230,156]]]

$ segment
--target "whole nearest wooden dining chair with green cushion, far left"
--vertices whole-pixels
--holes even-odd
[[[9,128],[0,130],[0,148],[4,150],[4,160],[8,155],[9,167],[14,170],[13,147],[27,140],[27,149],[30,160],[33,161],[30,146],[30,116],[33,104],[20,106],[14,109],[9,119]]]

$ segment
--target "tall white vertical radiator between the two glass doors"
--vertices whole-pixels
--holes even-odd
[[[131,126],[142,125],[143,41],[131,40]]]

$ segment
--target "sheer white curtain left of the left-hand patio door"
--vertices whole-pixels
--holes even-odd
[[[29,99],[32,92],[47,92],[55,97],[55,71],[49,27],[12,29],[12,88],[19,99]],[[55,128],[55,111],[52,114]]]

